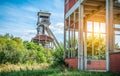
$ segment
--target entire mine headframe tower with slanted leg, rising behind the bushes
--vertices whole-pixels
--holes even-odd
[[[47,48],[59,47],[56,37],[49,28],[51,13],[40,11],[37,15],[37,35],[32,41]]]

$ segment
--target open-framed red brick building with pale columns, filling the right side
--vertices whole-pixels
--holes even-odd
[[[65,0],[64,7],[64,58],[68,66],[120,72],[120,0]]]

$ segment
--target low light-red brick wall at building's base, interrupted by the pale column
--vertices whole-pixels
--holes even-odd
[[[78,67],[78,58],[70,58],[65,59],[65,63],[69,68]],[[90,64],[87,64],[88,70],[105,70],[106,69],[106,61],[105,60],[91,60]]]

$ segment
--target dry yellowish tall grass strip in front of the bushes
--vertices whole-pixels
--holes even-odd
[[[36,69],[45,69],[48,68],[49,64],[43,63],[43,64],[37,64],[34,63],[32,65],[30,64],[1,64],[0,65],[0,72],[9,72],[9,71],[25,71],[25,70],[36,70]]]

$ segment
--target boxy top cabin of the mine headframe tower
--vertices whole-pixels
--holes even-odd
[[[51,13],[45,11],[39,11],[37,15],[38,15],[38,23],[37,23],[38,26],[41,24],[50,25]]]

